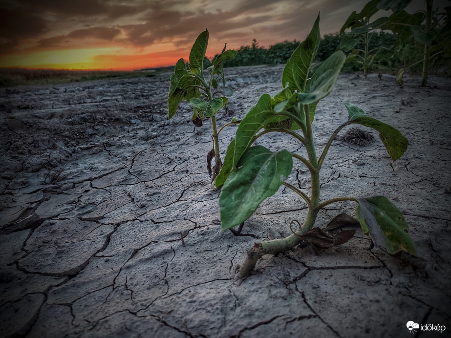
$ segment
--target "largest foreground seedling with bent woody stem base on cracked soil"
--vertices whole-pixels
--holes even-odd
[[[240,267],[237,274],[239,278],[249,275],[262,255],[295,247],[302,240],[311,242],[318,250],[346,242],[354,231],[343,231],[331,237],[321,229],[313,228],[318,212],[339,201],[358,203],[358,222],[376,246],[389,254],[407,252],[416,255],[415,245],[407,233],[408,225],[403,215],[386,197],[336,197],[320,200],[322,164],[332,141],[345,126],[360,124],[377,130],[393,161],[406,151],[408,140],[397,129],[369,117],[358,106],[346,103],[349,120],[332,133],[321,155],[317,156],[311,127],[315,109],[318,102],[332,90],[345,60],[344,53],[338,51],[309,77],[309,68],[319,43],[318,16],[307,39],[300,44],[285,65],[282,74],[283,89],[273,98],[269,94],[263,94],[247,113],[236,130],[236,136],[227,149],[224,166],[216,177],[216,186],[223,185],[219,196],[223,230],[247,220],[259,204],[279,190],[281,185],[301,196],[308,207],[305,221],[302,225],[298,222],[299,228],[293,234],[282,239],[255,243]],[[297,132],[298,129],[301,133]],[[307,158],[286,149],[272,152],[260,145],[253,146],[259,137],[271,132],[281,132],[294,137],[305,147]],[[284,182],[292,171],[293,158],[301,161],[310,171],[310,196]],[[344,216],[340,216],[336,222],[343,222],[341,217]]]

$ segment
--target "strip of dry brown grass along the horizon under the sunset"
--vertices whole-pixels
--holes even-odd
[[[153,76],[154,74],[148,71],[0,68],[0,87],[29,84],[63,84],[108,78]]]

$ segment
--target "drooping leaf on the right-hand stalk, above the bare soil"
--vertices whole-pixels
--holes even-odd
[[[406,152],[408,140],[399,132],[398,129],[369,117],[358,106],[347,102],[344,105],[349,113],[349,121],[365,127],[373,128],[379,132],[379,137],[381,138],[382,143],[393,161],[396,161]]]

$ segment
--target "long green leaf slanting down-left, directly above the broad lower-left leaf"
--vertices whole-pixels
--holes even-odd
[[[234,167],[244,151],[251,146],[252,138],[275,115],[271,107],[271,96],[263,94],[257,104],[249,110],[236,130]]]

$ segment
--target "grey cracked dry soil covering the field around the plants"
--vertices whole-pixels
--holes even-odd
[[[226,69],[233,116],[277,93],[282,69]],[[239,286],[236,265],[256,238],[287,236],[306,206],[280,189],[245,235],[222,232],[206,169],[210,123],[194,127],[186,102],[168,120],[169,80],[1,89],[1,337],[408,337],[408,321],[451,330],[451,79],[431,76],[420,88],[407,76],[401,89],[389,75],[342,74],[313,124],[321,149],[347,119],[348,101],[408,138],[392,168],[374,131],[364,146],[339,137],[323,165],[322,198],[386,195],[426,269],[374,248],[357,229],[318,256],[309,247],[264,256]],[[219,125],[227,121],[220,114]],[[223,152],[234,133],[221,132]],[[300,149],[285,136],[259,143]],[[288,181],[310,187],[299,162]],[[318,225],[340,212],[353,214],[355,204],[328,206]]]

